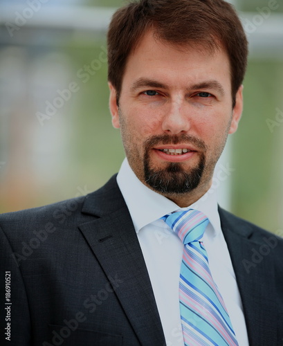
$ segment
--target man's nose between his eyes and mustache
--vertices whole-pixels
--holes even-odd
[[[172,102],[163,118],[162,129],[167,134],[180,134],[190,129],[188,107],[184,102]]]

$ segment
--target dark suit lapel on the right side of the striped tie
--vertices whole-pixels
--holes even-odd
[[[255,226],[219,209],[237,278],[250,345],[276,345],[277,311],[272,256],[263,256],[264,239],[257,239]]]

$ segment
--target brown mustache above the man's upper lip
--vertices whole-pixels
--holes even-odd
[[[201,149],[203,152],[206,152],[206,150],[208,149],[206,143],[204,143],[203,140],[188,134],[174,136],[170,136],[169,134],[163,134],[161,136],[152,136],[145,141],[145,149],[147,150],[151,147],[154,147],[154,145],[160,144],[192,144],[198,149]]]

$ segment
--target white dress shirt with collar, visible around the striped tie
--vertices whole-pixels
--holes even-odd
[[[179,273],[183,243],[160,218],[174,210],[186,210],[190,207],[203,212],[210,220],[203,236],[210,271],[228,309],[239,346],[248,346],[241,298],[227,244],[221,230],[215,190],[208,190],[192,206],[179,208],[170,199],[141,183],[131,170],[127,158],[122,163],[117,182],[129,208],[143,251],[166,345],[184,345],[179,311]]]

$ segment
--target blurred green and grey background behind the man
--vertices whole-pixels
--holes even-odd
[[[27,1],[0,5],[0,212],[91,192],[125,157],[111,127],[105,62],[105,30],[124,1],[35,2],[30,10]],[[250,59],[244,114],[221,158],[233,172],[216,184],[219,202],[283,236],[283,3],[232,3]],[[58,90],[69,99],[42,118]]]

